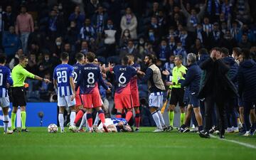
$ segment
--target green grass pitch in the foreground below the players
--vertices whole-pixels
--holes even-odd
[[[142,127],[134,133],[50,134],[46,127],[28,128],[29,133],[4,135],[0,129],[1,159],[251,159],[256,149],[220,139],[202,139],[195,133],[153,133]],[[65,129],[68,131],[68,129]],[[226,139],[256,146],[256,136],[226,134]]]

